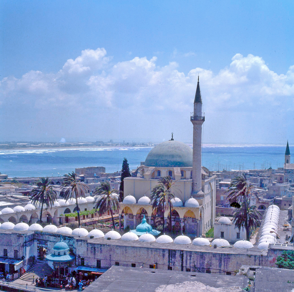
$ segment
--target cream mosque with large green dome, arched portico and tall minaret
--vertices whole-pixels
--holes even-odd
[[[136,228],[145,216],[149,224],[162,224],[162,214],[156,214],[149,199],[152,189],[161,177],[170,176],[175,180],[173,193],[173,230],[191,236],[205,234],[215,221],[216,176],[201,166],[202,98],[198,83],[194,99],[193,149],[173,139],[156,145],[141,163],[132,177],[124,179],[124,199],[120,205],[119,222],[124,217],[124,226]],[[169,224],[170,212],[164,213],[165,225]]]

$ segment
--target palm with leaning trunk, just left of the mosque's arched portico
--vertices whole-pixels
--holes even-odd
[[[113,212],[118,211],[119,208],[118,197],[114,192],[109,182],[102,182],[100,187],[97,187],[94,192],[97,195],[94,202],[96,203],[95,208],[98,209],[99,216],[110,212],[113,229],[115,229]]]

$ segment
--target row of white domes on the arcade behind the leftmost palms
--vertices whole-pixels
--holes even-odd
[[[90,196],[86,197],[86,198],[79,197],[78,198],[78,204],[91,203],[91,202],[94,202],[94,199],[95,198],[90,197]],[[68,200],[58,199],[57,201],[54,202],[52,207],[65,206],[65,205],[70,205],[70,204],[76,204],[76,199],[74,199],[74,198],[71,198],[71,199],[68,199]],[[26,204],[26,206],[24,206],[24,207],[15,206],[13,209],[11,209],[9,207],[6,207],[6,208],[4,208],[4,209],[2,209],[0,211],[0,215],[1,214],[11,214],[11,213],[14,213],[14,212],[24,212],[24,211],[35,210],[35,209],[36,209],[35,206],[33,204],[31,204],[31,201],[29,201],[29,204]]]

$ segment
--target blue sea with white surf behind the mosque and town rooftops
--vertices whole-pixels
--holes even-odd
[[[202,165],[217,171],[276,169],[283,167],[285,148],[277,145],[203,145]],[[88,166],[104,166],[106,172],[116,172],[121,170],[124,157],[132,170],[145,161],[151,149],[117,146],[0,150],[0,172],[9,177],[51,177]],[[294,153],[293,146],[290,152]]]

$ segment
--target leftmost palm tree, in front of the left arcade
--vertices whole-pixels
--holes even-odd
[[[43,206],[45,205],[46,209],[48,207],[51,208],[57,199],[57,195],[52,186],[49,185],[48,177],[40,177],[36,185],[37,187],[31,190],[30,195],[32,197],[32,204],[36,208],[41,207],[40,223],[42,223]]]

